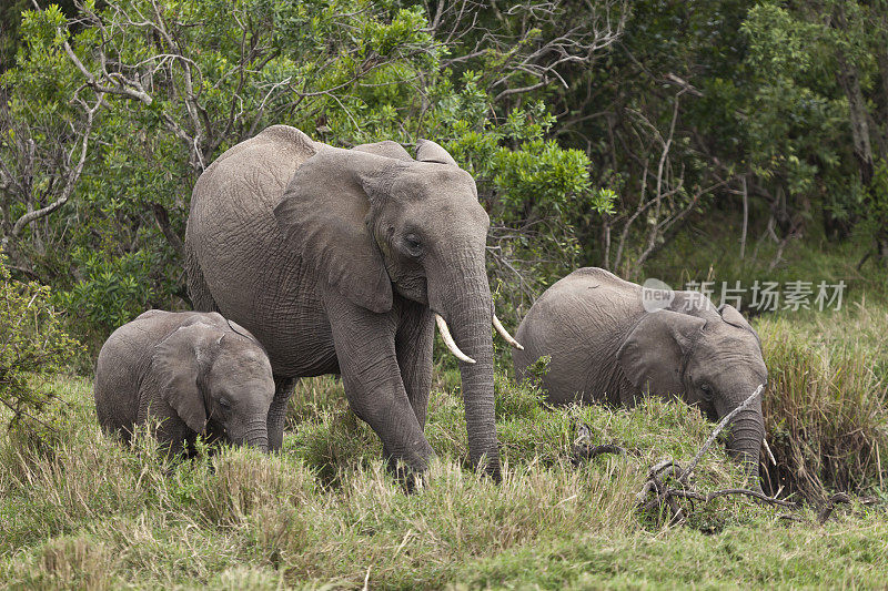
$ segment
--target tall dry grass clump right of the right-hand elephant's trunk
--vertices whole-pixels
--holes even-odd
[[[757,328],[770,373],[764,411],[778,460],[771,488],[787,486],[819,501],[828,490],[879,485],[880,460],[888,458],[881,457],[888,450],[888,384],[876,371],[877,357],[848,342],[814,340],[787,319],[763,320]]]

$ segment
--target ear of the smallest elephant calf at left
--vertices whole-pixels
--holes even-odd
[[[175,410],[189,429],[202,432],[206,405],[200,379],[209,365],[209,349],[224,333],[204,323],[176,328],[154,347],[152,369],[161,398]]]

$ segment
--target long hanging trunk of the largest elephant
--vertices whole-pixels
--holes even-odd
[[[477,265],[477,264],[476,264]],[[468,429],[468,455],[472,463],[484,468],[496,481],[502,478],[500,449],[496,441],[493,391],[493,306],[484,259],[480,268],[446,281],[442,302],[453,338],[458,348],[475,363],[460,361],[463,400]],[[465,271],[471,265],[457,263],[452,268]]]

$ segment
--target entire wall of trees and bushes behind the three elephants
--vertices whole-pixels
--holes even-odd
[[[811,234],[888,256],[882,1],[13,4],[3,246],[90,340],[189,305],[191,187],[272,123],[442,143],[517,316],[578,265],[645,274],[714,215],[740,259],[773,243],[770,267]]]

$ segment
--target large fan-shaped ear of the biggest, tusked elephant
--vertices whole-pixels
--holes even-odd
[[[286,234],[321,282],[375,313],[392,309],[392,281],[366,221],[372,200],[386,198],[406,163],[327,147],[305,161],[274,208]]]

